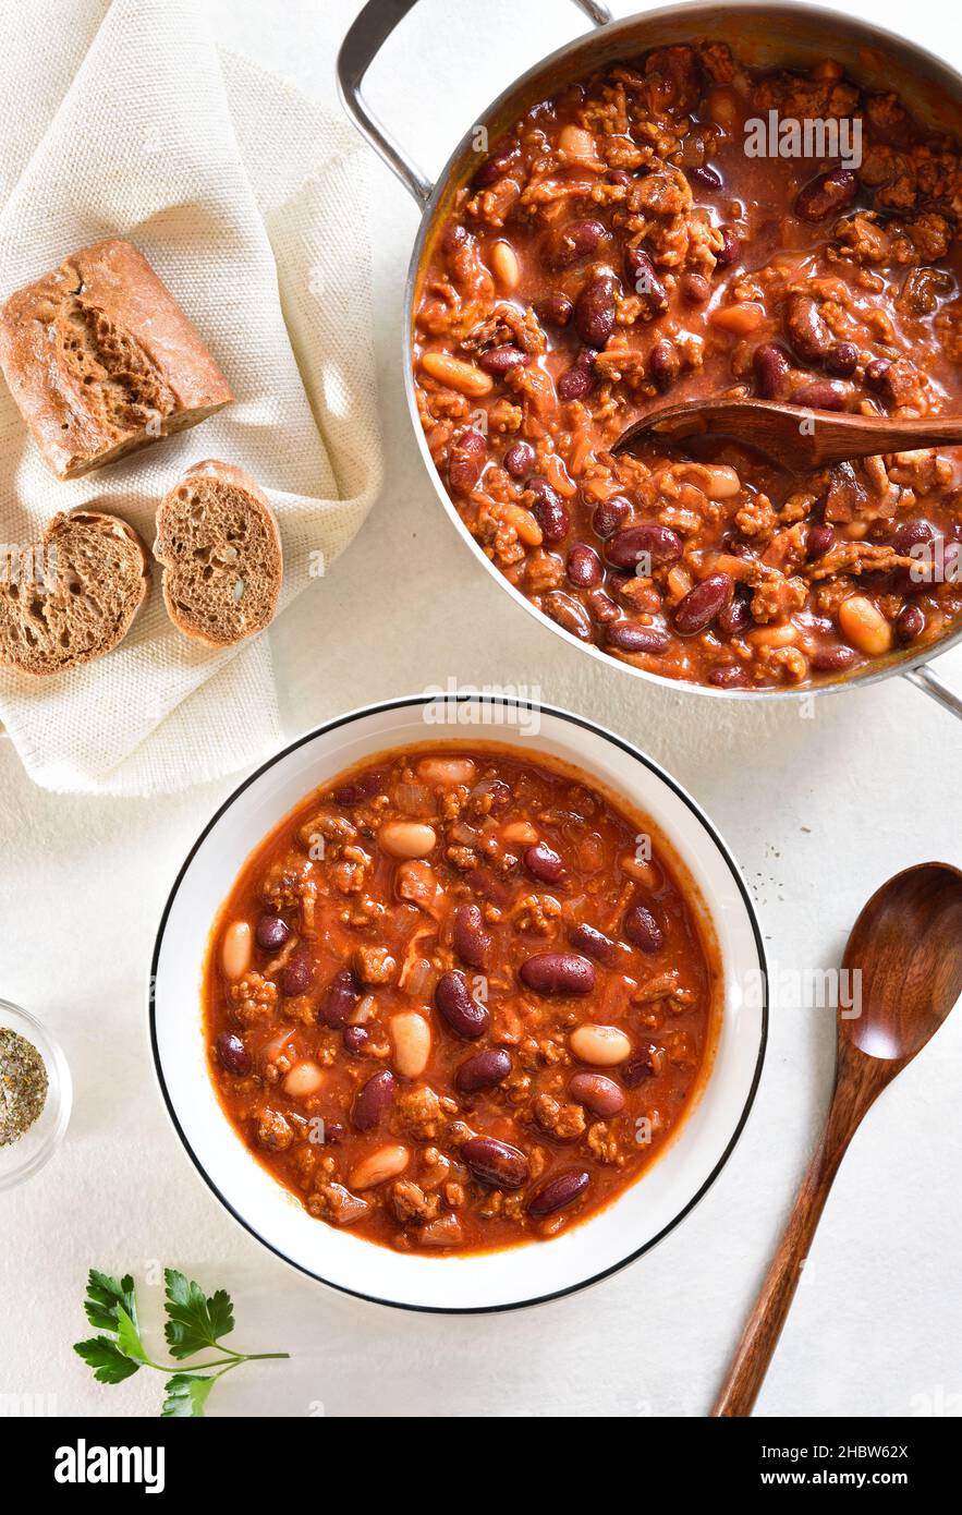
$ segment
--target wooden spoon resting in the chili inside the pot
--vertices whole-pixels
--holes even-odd
[[[720,438],[741,442],[782,468],[806,473],[824,464],[917,447],[962,447],[962,418],[929,415],[892,420],[888,415],[847,415],[809,411],[779,400],[686,400],[667,405],[627,427],[612,447],[632,451],[644,441]]]

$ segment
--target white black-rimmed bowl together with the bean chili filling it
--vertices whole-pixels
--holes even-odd
[[[648,759],[565,712],[532,739],[498,703],[492,739],[448,708],[456,732],[426,698],[332,723],[218,812],[158,938],[155,1057],[203,1176],[294,1265],[511,1307],[704,1192],[754,1092],[764,964],[724,845]]]

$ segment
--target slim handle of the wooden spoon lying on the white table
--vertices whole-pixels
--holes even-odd
[[[836,1109],[833,1104],[815,1156],[801,1180],[779,1250],[771,1259],[754,1309],[712,1407],[714,1417],[750,1415],[768,1373],[832,1180],[857,1126],[856,1120],[854,1126],[841,1130]]]

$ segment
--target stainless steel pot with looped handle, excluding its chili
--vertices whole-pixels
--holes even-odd
[[[568,42],[567,47],[551,53],[550,58],[545,58],[544,62],[530,68],[521,79],[509,85],[482,117],[468,126],[468,130],[441,171],[438,182],[433,185],[377,121],[361,94],[364,77],[380,47],[398,21],[414,8],[415,0],[368,0],[344,38],[338,58],[338,83],[348,115],[380,158],[394,170],[421,209],[421,227],[411,255],[404,297],[403,370],[411,421],[441,504],[477,561],[483,564],[488,573],[497,579],[501,588],[518,604],[530,615],[535,615],[544,626],[548,626],[556,636],[564,636],[573,647],[597,658],[607,667],[615,664],[629,674],[647,679],[651,683],[724,700],[809,698],[814,694],[832,694],[838,689],[854,688],[856,685],[876,683],[880,679],[888,679],[891,674],[903,674],[920,689],[924,689],[926,694],[930,694],[947,709],[953,711],[954,715],[962,717],[962,697],[929,667],[933,648],[926,648],[915,654],[895,653],[882,664],[870,665],[862,674],[853,674],[847,679],[814,688],[803,686],[801,689],[717,689],[711,685],[667,679],[662,674],[635,668],[632,664],[618,662],[598,647],[577,641],[570,632],[565,632],[547,615],[542,615],[494,567],[461,521],[432,462],[418,421],[411,364],[411,332],[424,248],[430,241],[435,226],[447,214],[454,192],[471,177],[477,167],[474,141],[480,126],[486,127],[488,139],[494,142],[536,100],[558,94],[567,83],[611,64],[614,59],[633,58],[648,52],[651,47],[686,42],[695,36],[712,36],[730,42],[742,61],[759,67],[807,67],[820,62],[830,53],[833,59],[847,68],[851,77],[867,88],[895,89],[915,117],[926,126],[962,136],[962,76],[914,42],[885,32],[882,27],[856,21],[839,11],[797,3],[757,5],[756,0],[730,0],[726,5],[706,5],[698,0],[698,3],[667,6],[659,11],[650,11],[645,15],[612,21],[607,8],[600,5],[598,0],[574,0],[574,3],[594,23],[597,30],[577,38],[574,42]],[[962,641],[962,626],[936,644],[938,651],[947,651],[959,641]]]

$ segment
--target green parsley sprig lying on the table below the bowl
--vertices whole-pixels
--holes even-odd
[[[164,1270],[167,1323],[164,1336],[171,1357],[182,1362],[200,1351],[217,1351],[212,1362],[191,1364],[189,1371],[174,1371],[173,1364],[155,1362],[141,1338],[136,1289],[130,1274],[112,1279],[91,1268],[83,1309],[100,1332],[79,1341],[74,1351],[94,1370],[98,1383],[123,1383],[139,1368],[168,1373],[167,1398],[161,1415],[203,1415],[208,1395],[218,1379],[242,1362],[286,1357],[286,1351],[233,1351],[223,1338],[233,1330],[233,1304],[224,1289],[205,1294],[198,1283],[174,1268]]]

